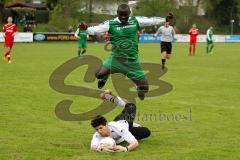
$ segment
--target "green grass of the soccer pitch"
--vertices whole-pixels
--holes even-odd
[[[0,44],[2,46],[2,44]],[[152,130],[150,138],[129,153],[101,154],[89,150],[94,130],[89,121],[65,122],[55,115],[55,105],[73,99],[75,113],[90,110],[101,100],[64,95],[49,87],[50,74],[76,55],[75,43],[15,44],[11,65],[0,61],[1,160],[237,160],[240,159],[240,45],[216,43],[213,55],[199,44],[195,57],[188,44],[174,44],[161,77],[173,85],[165,95],[137,100],[138,113],[185,115],[188,119],[137,120]],[[3,47],[0,47],[3,52]],[[159,44],[140,44],[142,62],[160,62]],[[88,54],[105,59],[103,44],[88,44]],[[83,82],[85,68],[75,70],[67,83]],[[112,88],[111,81],[105,88]],[[191,109],[191,120],[189,110]],[[119,108],[106,114],[112,119]]]

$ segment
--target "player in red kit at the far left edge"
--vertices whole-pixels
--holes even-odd
[[[13,47],[14,36],[17,32],[17,26],[12,23],[12,17],[8,17],[7,23],[2,28],[3,37],[5,40],[4,46],[7,49],[4,54],[4,59],[10,64],[11,63],[11,50]]]

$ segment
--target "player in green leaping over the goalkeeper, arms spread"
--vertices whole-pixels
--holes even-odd
[[[87,32],[90,35],[108,32],[112,45],[111,55],[96,72],[98,88],[105,85],[109,74],[122,73],[136,84],[138,96],[143,100],[148,92],[148,82],[138,58],[138,30],[142,26],[164,23],[165,18],[134,17],[129,16],[130,13],[129,6],[121,4],[118,6],[117,18],[89,27]]]

